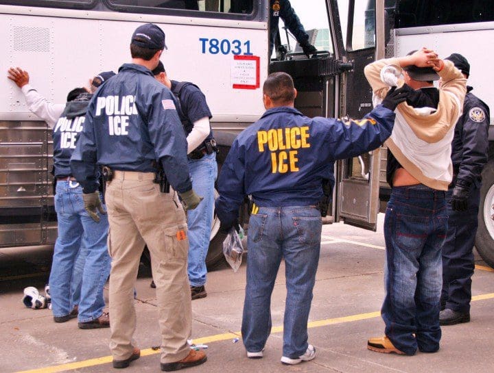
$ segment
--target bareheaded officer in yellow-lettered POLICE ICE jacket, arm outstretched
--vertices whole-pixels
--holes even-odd
[[[216,201],[222,229],[231,229],[244,195],[255,203],[249,221],[247,285],[242,338],[247,357],[263,357],[270,334],[270,298],[285,258],[287,300],[283,328],[285,364],[314,359],[307,319],[318,266],[322,179],[336,159],[380,146],[391,134],[397,104],[393,90],[362,120],[307,118],[294,109],[290,75],[272,73],[263,85],[267,111],[237,136],[219,179]],[[331,168],[332,169],[332,168]]]

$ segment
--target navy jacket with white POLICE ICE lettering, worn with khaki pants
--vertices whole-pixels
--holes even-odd
[[[161,162],[174,190],[191,190],[187,140],[172,92],[137,64],[96,91],[71,159],[72,175],[84,193],[97,189],[96,164],[113,170],[156,172]]]

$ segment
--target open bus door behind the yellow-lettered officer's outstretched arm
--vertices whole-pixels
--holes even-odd
[[[384,42],[384,0],[331,0],[329,5],[336,55],[349,68],[340,75],[336,112],[340,118],[362,118],[373,109],[364,67],[384,57],[384,49],[377,52],[378,43]],[[337,221],[376,230],[380,162],[379,149],[338,162]]]

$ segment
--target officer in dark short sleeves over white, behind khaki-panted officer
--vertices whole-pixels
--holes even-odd
[[[189,229],[189,260],[187,272],[191,285],[191,298],[207,296],[206,255],[213,222],[214,182],[217,176],[216,142],[209,119],[211,110],[206,97],[198,86],[187,81],[170,80],[165,66],[160,61],[152,71],[177,98],[177,112],[187,135],[187,157],[189,159],[192,188],[204,197],[200,205],[187,212]]]

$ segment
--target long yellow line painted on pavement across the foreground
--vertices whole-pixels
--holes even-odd
[[[494,293],[480,294],[477,296],[472,296],[472,302],[474,302],[476,300],[486,300],[486,299],[493,299],[493,298],[494,298]],[[377,318],[380,315],[381,315],[380,311],[375,311],[375,312],[369,312],[369,313],[360,313],[360,314],[351,315],[351,316],[343,316],[341,318],[316,320],[316,321],[311,321],[311,322],[307,323],[307,327],[308,328],[318,328],[320,326],[327,326],[327,325],[333,325],[333,324],[343,324],[344,322],[354,322],[354,321],[360,321],[360,320],[367,320],[367,319],[371,319],[371,318]],[[283,326],[273,326],[271,329],[271,333],[281,333],[282,331],[283,331]],[[228,339],[235,339],[235,338],[239,338],[240,336],[241,336],[241,333],[239,331],[237,331],[235,333],[223,333],[223,334],[209,335],[208,337],[196,338],[196,339],[193,339],[193,342],[195,344],[207,344],[207,343],[211,343],[211,342],[220,342],[220,341],[226,341]],[[160,352],[160,350],[153,350],[152,348],[146,348],[145,350],[141,350],[141,356],[155,355],[155,354],[158,354],[159,352]],[[80,369],[80,368],[88,368],[88,367],[95,366],[95,365],[107,364],[107,363],[111,363],[111,361],[112,361],[111,356],[97,357],[96,359],[88,359],[88,360],[84,360],[84,361],[75,361],[74,363],[53,365],[51,367],[38,368],[38,369],[32,369],[32,370],[23,370],[23,371],[16,372],[16,373],[67,372],[68,370],[75,370],[75,369]]]

